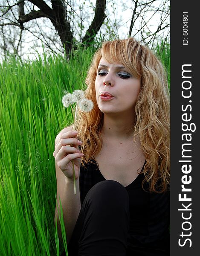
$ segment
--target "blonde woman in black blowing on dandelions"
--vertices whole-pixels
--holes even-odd
[[[64,128],[55,139],[59,236],[60,198],[69,256],[170,255],[165,70],[133,38],[108,41],[86,82],[93,110],[78,131]]]

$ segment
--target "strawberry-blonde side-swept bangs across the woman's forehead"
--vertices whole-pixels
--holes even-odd
[[[114,40],[104,42],[101,48],[101,57],[108,63],[122,64],[134,77],[139,79],[141,77],[141,55],[139,54],[139,46],[136,47],[134,44],[136,44],[136,41]]]

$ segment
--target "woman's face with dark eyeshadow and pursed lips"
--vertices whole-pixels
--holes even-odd
[[[101,58],[95,80],[96,101],[101,112],[135,112],[140,82],[121,64],[110,64]]]

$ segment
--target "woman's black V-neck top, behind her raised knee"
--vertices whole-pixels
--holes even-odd
[[[146,163],[146,161],[145,161]],[[144,166],[145,166],[144,163]],[[141,173],[125,187],[129,194],[130,229],[128,247],[134,255],[170,255],[170,192],[145,192],[142,189]],[[81,205],[87,192],[98,182],[105,180],[96,162],[81,165],[80,169],[80,196]],[[148,191],[147,184],[144,186]],[[143,251],[143,254],[139,253]],[[151,254],[152,251],[152,254]]]

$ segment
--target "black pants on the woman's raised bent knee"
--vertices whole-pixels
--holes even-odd
[[[114,180],[97,183],[84,199],[68,255],[126,256],[129,219],[129,195],[124,186]]]

